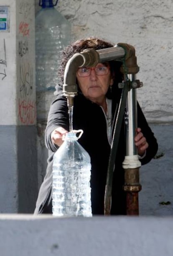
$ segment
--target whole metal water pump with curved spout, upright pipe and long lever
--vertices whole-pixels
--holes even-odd
[[[135,49],[129,44],[117,44],[115,47],[106,49],[94,50],[86,49],[81,53],[76,53],[67,62],[64,72],[64,85],[63,93],[67,97],[68,106],[73,106],[73,99],[77,93],[76,85],[76,71],[78,67],[94,67],[99,62],[105,62],[110,60],[120,60],[123,62],[121,72],[125,74],[125,90],[123,90],[119,114],[118,123],[122,123],[123,111],[125,108],[125,101],[127,98],[127,112],[126,112],[126,156],[123,162],[123,168],[125,169],[125,186],[124,190],[127,192],[127,215],[138,215],[138,192],[141,190],[139,184],[139,167],[141,165],[138,160],[137,150],[135,147],[135,130],[137,128],[137,101],[135,89],[141,87],[142,83],[139,80],[135,80],[135,74],[139,71],[139,67],[136,63]],[[129,92],[127,92],[129,91]],[[127,96],[128,94],[128,96]],[[121,110],[122,106],[122,110]],[[120,124],[117,127],[118,135],[120,130]],[[118,138],[119,139],[119,138]],[[113,143],[113,142],[112,142]],[[117,145],[115,150],[112,150],[109,159],[108,174],[106,190],[105,190],[105,203],[104,212],[106,215],[110,214],[111,209],[111,193],[112,193],[112,177],[114,169],[114,159],[116,156]],[[114,151],[112,153],[112,151]],[[110,172],[109,172],[110,169]],[[116,170],[115,170],[116,171]],[[118,207],[118,206],[117,206]]]

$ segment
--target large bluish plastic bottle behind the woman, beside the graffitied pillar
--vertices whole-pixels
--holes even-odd
[[[54,8],[57,2],[40,0],[36,15],[36,91],[54,89],[59,83],[60,54],[71,40],[71,24]]]

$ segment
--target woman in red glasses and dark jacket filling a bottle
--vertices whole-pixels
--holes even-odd
[[[69,115],[66,97],[62,95],[64,70],[67,61],[76,52],[84,49],[104,49],[113,47],[107,41],[97,38],[82,39],[67,47],[63,54],[59,71],[61,84],[56,87],[56,99],[48,114],[45,131],[46,147],[49,150],[48,167],[41,185],[35,214],[52,213],[52,159],[54,152],[63,143],[62,136],[69,131]],[[118,83],[122,82],[120,62],[110,61],[98,63],[94,68],[79,68],[76,72],[78,95],[74,97],[73,128],[83,129],[84,134],[79,143],[91,157],[91,199],[92,214],[104,214],[104,191],[107,167],[112,141],[113,120],[117,114],[121,90]],[[158,144],[145,116],[137,105],[138,127],[135,145],[142,164],[148,163],[156,154]],[[126,199],[123,191],[124,170],[122,162],[125,158],[124,124],[120,132],[115,171],[112,184],[112,215],[126,214]]]

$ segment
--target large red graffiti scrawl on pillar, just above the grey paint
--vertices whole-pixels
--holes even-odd
[[[36,103],[35,101],[21,100],[18,102],[18,116],[22,124],[33,124],[36,120]]]

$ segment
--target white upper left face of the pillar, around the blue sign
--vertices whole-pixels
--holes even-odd
[[[0,125],[16,124],[16,4],[15,1],[0,1],[0,6],[8,6],[9,30],[0,30]],[[13,43],[12,43],[13,38]],[[5,74],[5,75],[3,75]]]

